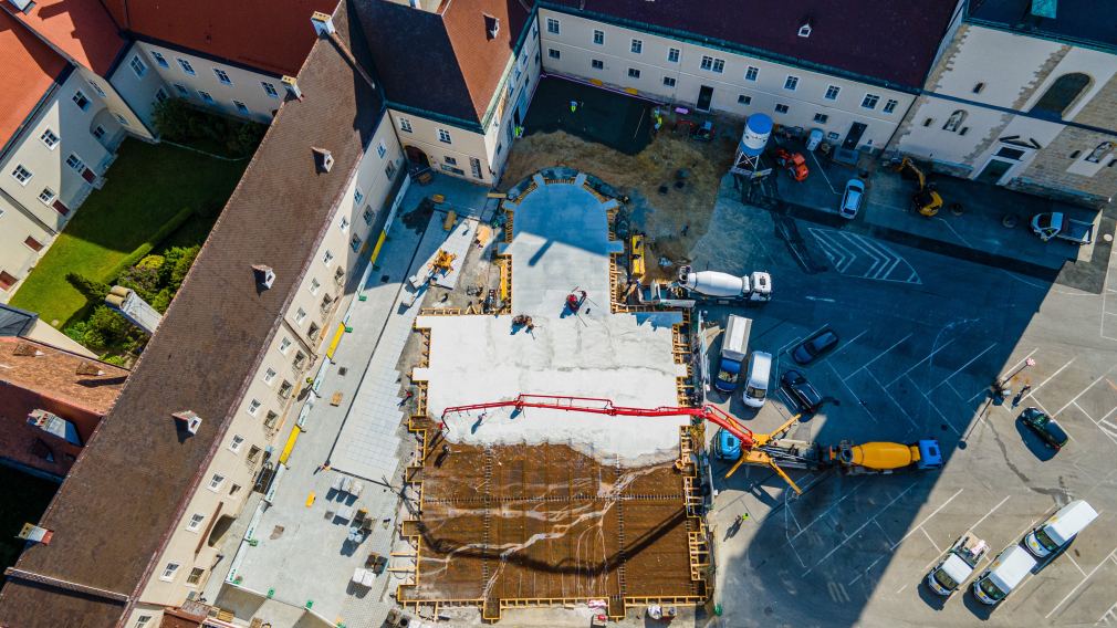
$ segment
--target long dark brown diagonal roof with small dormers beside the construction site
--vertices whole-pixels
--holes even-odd
[[[338,35],[360,37],[342,7]],[[381,117],[375,93],[328,40],[314,44],[298,83],[305,98],[279,108],[116,406],[44,515],[50,545],[27,549],[18,569],[133,597],[150,577]],[[333,153],[331,172],[315,171],[312,146]],[[257,291],[252,264],[275,269],[270,289]],[[181,410],[202,417],[197,436],[180,437],[171,413]],[[123,610],[23,579],[0,590],[0,626],[102,628]]]

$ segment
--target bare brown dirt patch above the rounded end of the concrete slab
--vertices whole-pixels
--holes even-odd
[[[566,165],[601,178],[630,197],[636,229],[647,234],[652,259],[666,257],[672,266],[649,264],[649,274],[668,278],[674,265],[689,261],[694,244],[709,228],[709,217],[722,177],[729,171],[742,124],[718,120],[712,142],[691,140],[672,120],[648,146],[627,155],[563,131],[527,135],[514,145],[499,189],[507,190],[532,173]],[[679,172],[685,171],[680,181]]]

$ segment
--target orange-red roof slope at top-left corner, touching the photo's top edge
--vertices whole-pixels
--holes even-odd
[[[26,13],[4,8],[74,60],[107,76],[124,47],[116,25],[98,0],[37,0]]]

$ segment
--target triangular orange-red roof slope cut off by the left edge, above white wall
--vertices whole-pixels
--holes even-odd
[[[0,146],[16,133],[68,65],[0,9]]]

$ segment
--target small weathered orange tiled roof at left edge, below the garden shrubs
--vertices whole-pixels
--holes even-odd
[[[104,374],[78,374],[83,364],[92,367],[83,370],[96,369]],[[97,416],[104,416],[113,407],[127,375],[127,369],[49,344],[25,337],[0,337],[0,384],[26,389]]]

